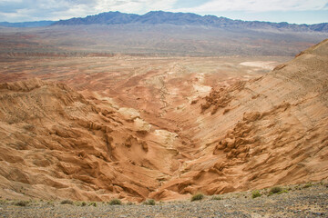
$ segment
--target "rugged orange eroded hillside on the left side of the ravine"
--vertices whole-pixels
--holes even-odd
[[[0,87],[2,195],[141,201],[179,166],[179,136],[136,110],[37,79]]]

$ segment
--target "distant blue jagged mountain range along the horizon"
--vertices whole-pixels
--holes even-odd
[[[84,18],[71,18],[60,20],[52,25],[127,25],[127,24],[148,24],[148,25],[208,25],[220,28],[251,28],[251,29],[289,29],[292,31],[316,31],[328,32],[328,23],[317,25],[292,25],[286,22],[272,23],[260,21],[232,20],[226,17],[215,15],[196,15],[191,13],[171,13],[163,11],[152,11],[145,15],[125,14],[120,12],[106,12],[98,15],[88,15]]]

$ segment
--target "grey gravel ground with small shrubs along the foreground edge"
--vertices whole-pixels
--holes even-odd
[[[310,187],[307,187],[310,186]],[[18,201],[2,200],[0,217],[328,217],[328,184],[282,187],[288,193],[268,196],[269,189],[261,190],[261,197],[251,198],[251,192],[206,196],[195,202],[166,202],[156,205],[97,206],[61,204],[60,202],[30,201],[26,206]]]

